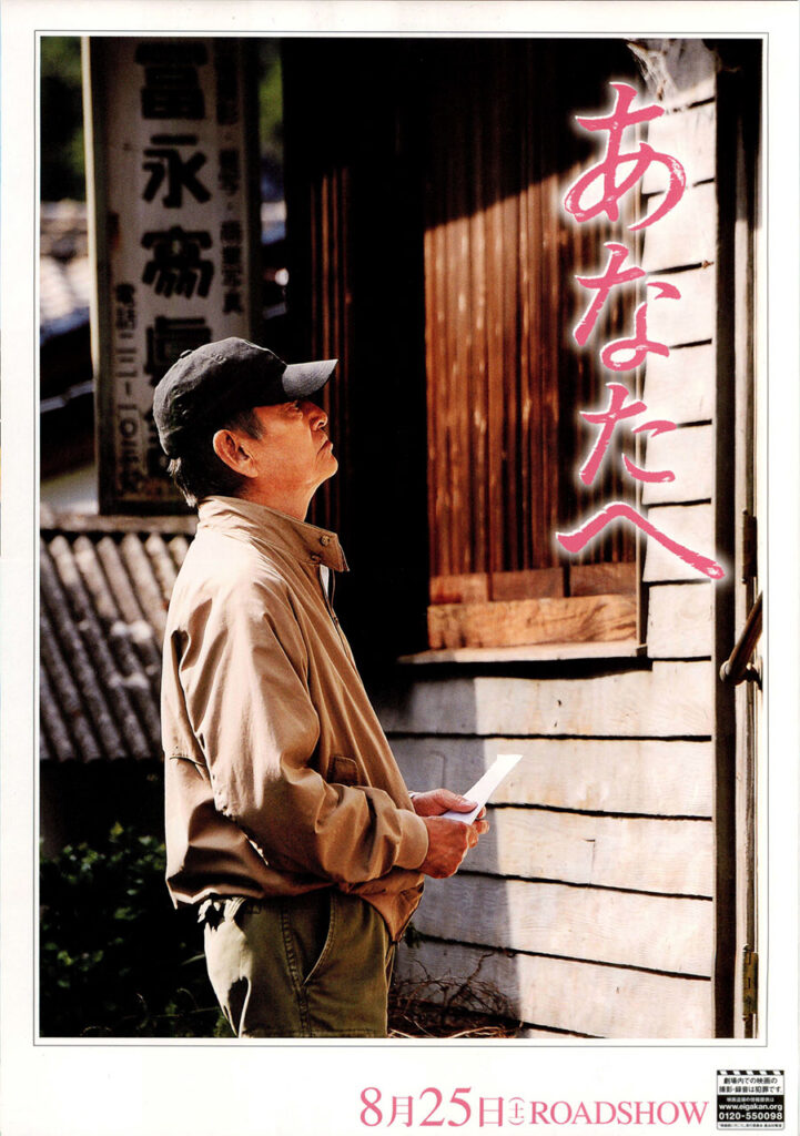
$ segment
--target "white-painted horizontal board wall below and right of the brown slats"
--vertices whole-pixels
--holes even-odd
[[[652,306],[649,321],[670,356],[650,357],[643,398],[678,429],[648,449],[650,468],[676,476],[644,503],[713,556],[715,77],[708,52],[691,67],[691,82],[666,85],[668,114],[648,139],[684,162],[688,190],[645,231],[642,266],[682,302]],[[664,189],[652,175],[644,185],[650,201]],[[455,878],[426,885],[422,941],[403,945],[399,972],[491,982],[531,1037],[714,1034],[714,585],[652,542],[644,582],[643,669],[432,667],[382,707],[413,788],[464,791],[498,752],[523,754],[490,809],[491,835]]]

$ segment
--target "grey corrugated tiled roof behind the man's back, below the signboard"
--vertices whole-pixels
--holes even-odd
[[[42,511],[40,755],[160,757],[161,641],[194,518]]]

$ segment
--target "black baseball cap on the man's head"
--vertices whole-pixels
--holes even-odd
[[[325,386],[338,362],[285,364],[267,348],[236,336],[184,351],[153,395],[161,449],[177,458],[186,438],[223,426],[241,410],[307,399]]]

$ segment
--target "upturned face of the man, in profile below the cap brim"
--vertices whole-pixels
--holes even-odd
[[[298,399],[272,407],[255,407],[260,438],[248,449],[259,478],[273,491],[310,495],[339,468],[326,433],[327,415],[314,402]]]

